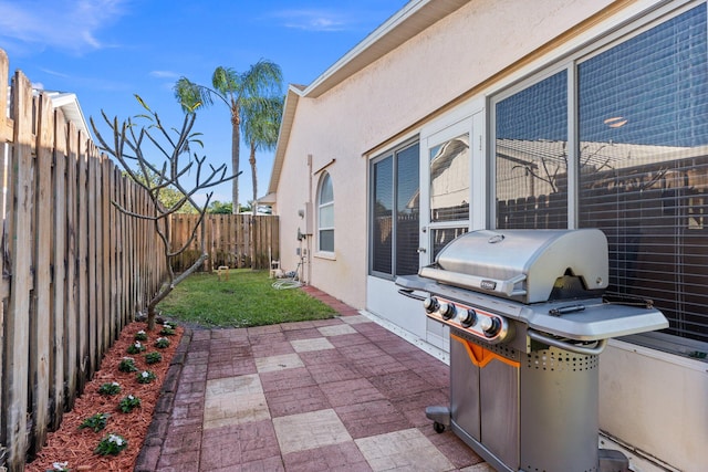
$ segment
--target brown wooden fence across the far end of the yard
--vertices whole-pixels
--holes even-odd
[[[197,214],[173,216],[173,250],[189,239],[197,218]],[[271,261],[280,260],[279,221],[272,216],[207,214],[206,250],[209,259],[202,270],[212,271],[220,265],[269,269]],[[189,250],[173,260],[173,269],[181,272],[189,268],[199,256],[199,239],[195,239]]]

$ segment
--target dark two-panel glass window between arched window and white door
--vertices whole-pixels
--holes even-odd
[[[419,146],[407,144],[372,161],[371,273],[418,273]]]

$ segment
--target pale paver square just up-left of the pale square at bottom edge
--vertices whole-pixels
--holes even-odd
[[[332,409],[273,418],[273,426],[283,454],[352,440]]]

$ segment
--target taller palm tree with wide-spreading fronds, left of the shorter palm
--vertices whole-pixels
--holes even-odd
[[[273,62],[261,60],[243,72],[219,66],[211,76],[212,87],[196,84],[187,77],[180,77],[174,86],[175,97],[185,112],[195,111],[200,105],[209,106],[215,101],[223,102],[231,114],[231,167],[237,177],[233,179],[231,200],[233,212],[239,208],[239,157],[241,143],[242,115],[246,108],[258,107],[281,95],[282,71]],[[264,105],[261,105],[264,106]]]

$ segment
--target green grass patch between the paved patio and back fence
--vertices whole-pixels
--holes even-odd
[[[269,271],[231,270],[229,280],[197,273],[173,290],[157,310],[167,318],[202,327],[249,327],[331,318],[329,305],[301,290],[277,290]]]

